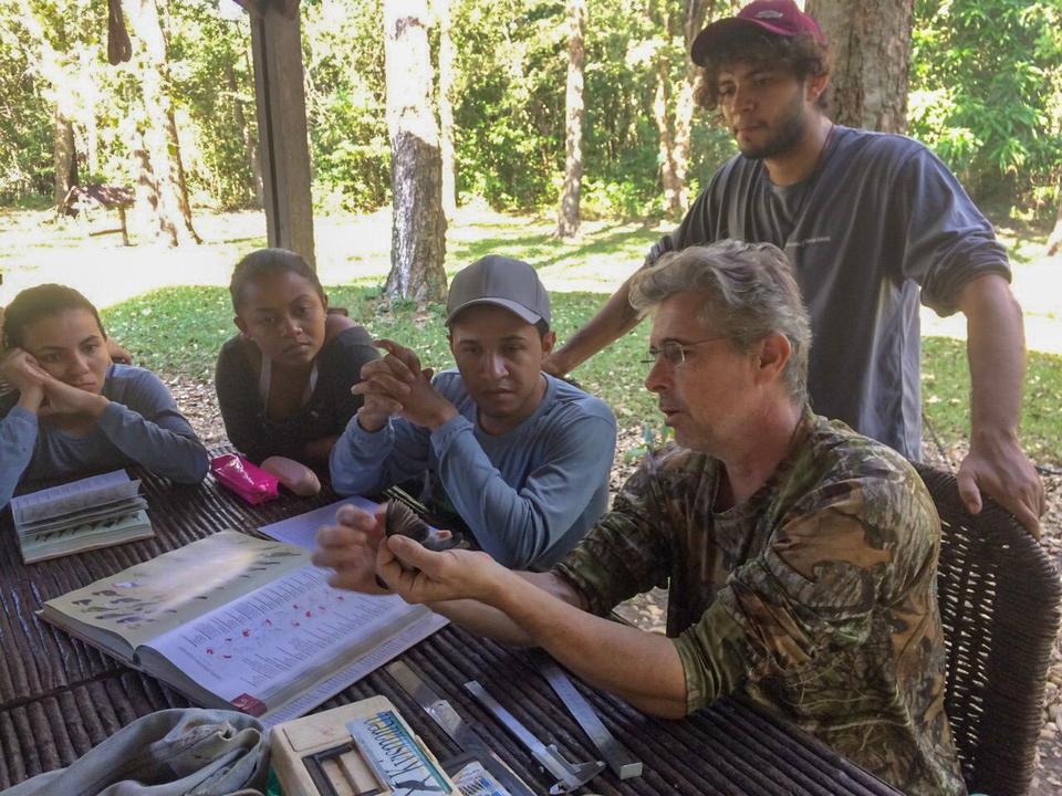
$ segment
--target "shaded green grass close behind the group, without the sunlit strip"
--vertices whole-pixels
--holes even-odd
[[[415,348],[425,366],[449,367],[444,312],[429,306],[387,308],[377,287],[329,287],[334,305],[345,306],[372,334],[393,337]],[[554,326],[563,339],[582,325],[607,293],[553,294]],[[136,355],[137,362],[167,376],[209,379],[221,343],[232,333],[228,292],[222,287],[165,287],[127,300],[104,311],[108,331]],[[646,348],[647,325],[573,373],[586,389],[607,400],[621,426],[663,431],[655,396],[642,386],[645,369],[638,360]],[[927,337],[923,347],[923,401],[928,423],[950,446],[966,434],[969,373],[966,344],[948,337]],[[1030,353],[1022,438],[1030,457],[1040,463],[1062,463],[1062,357]]]

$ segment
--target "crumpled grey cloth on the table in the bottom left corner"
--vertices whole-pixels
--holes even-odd
[[[269,734],[227,710],[174,709],[137,719],[66,768],[0,796],[261,796]]]

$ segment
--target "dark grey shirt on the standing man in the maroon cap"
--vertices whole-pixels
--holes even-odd
[[[910,138],[842,126],[794,186],[738,155],[646,262],[725,238],[773,243],[793,264],[814,334],[815,412],[920,458],[919,287],[950,315],[970,280],[1010,279],[1006,250],[947,167]]]

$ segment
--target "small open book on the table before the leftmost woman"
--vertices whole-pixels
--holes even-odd
[[[11,501],[27,564],[154,536],[139,481],[125,470],[31,492]]]

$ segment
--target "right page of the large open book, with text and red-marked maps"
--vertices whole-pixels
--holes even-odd
[[[332,588],[330,574],[306,565],[154,639],[148,651],[201,689],[260,716],[428,614],[397,595]],[[142,656],[148,671],[154,658]]]

